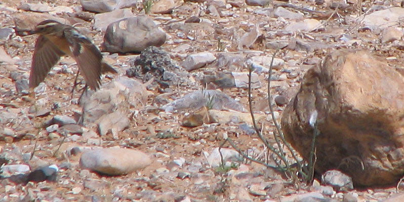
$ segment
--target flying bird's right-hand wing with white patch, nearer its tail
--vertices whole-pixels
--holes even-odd
[[[65,29],[64,34],[69,43],[70,51],[83,73],[86,84],[93,90],[100,87],[101,52],[91,41],[75,29]]]

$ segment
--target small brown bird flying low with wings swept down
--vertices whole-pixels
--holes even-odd
[[[70,25],[45,20],[31,33],[39,34],[32,57],[29,87],[35,88],[43,82],[51,68],[61,56],[74,58],[86,84],[93,90],[99,89],[102,73],[116,73],[102,59],[101,52],[85,35]]]

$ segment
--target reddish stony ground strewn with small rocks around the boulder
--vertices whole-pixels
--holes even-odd
[[[258,124],[262,126],[264,135],[276,145],[272,138],[275,128],[266,98],[268,73],[265,71],[276,48],[281,50],[275,56],[271,91],[273,97],[282,96],[276,99],[278,105],[274,105],[278,120],[285,104],[298,90],[305,71],[334,50],[369,50],[400,71],[404,44],[401,42],[403,29],[399,16],[404,16],[404,12],[399,11],[402,13],[398,12],[395,16],[394,12],[389,12],[391,16],[372,16],[372,13],[400,7],[401,2],[176,1],[170,14],[151,12],[148,16],[166,32],[167,39],[161,50],[168,53],[174,66],[180,67],[180,82],[164,86],[153,74],[140,77],[139,88],[143,90],[133,98],[136,101],[132,100],[124,114],[118,114],[128,118],[128,126],[122,132],[111,130],[105,131],[105,134],[99,125],[91,123],[78,129],[78,125],[73,124],[79,131],[76,133],[42,127],[58,115],[74,118],[82,112],[82,107],[78,104],[80,93],[70,97],[77,67],[69,57],[62,58],[51,70],[45,84],[36,90],[35,97],[21,90],[27,85],[24,80],[26,82],[29,76],[37,36],[17,36],[10,28],[15,27],[16,21],[29,22],[32,13],[21,7],[27,3],[38,2],[0,2],[0,124],[4,128],[0,134],[0,162],[4,165],[29,165],[31,170],[55,164],[59,171],[56,182],[15,185],[9,179],[2,179],[1,201],[404,200],[401,186],[398,187],[400,190],[396,190],[395,185],[338,190],[326,184],[320,185],[321,179],[305,185],[243,159],[232,160],[233,164],[226,168],[217,167],[220,156],[213,155],[214,149],[226,137],[231,138],[240,149],[249,150],[252,156],[266,155],[267,148],[253,132],[248,113],[245,85],[248,77],[245,72],[251,63],[257,67],[253,75],[253,86],[256,85],[252,92],[253,110],[259,117]],[[42,14],[61,18],[72,17],[82,10],[80,1],[76,0],[49,0],[45,3],[51,9],[44,8]],[[144,4],[138,2],[131,11],[135,15],[144,14],[143,7]],[[195,18],[200,19],[196,20],[199,23],[188,23]],[[104,33],[93,27],[91,19],[80,21],[80,26],[100,47]],[[385,20],[383,26],[388,28],[377,24],[381,19]],[[187,69],[187,63],[183,63],[187,56],[201,52],[213,55],[213,62],[195,70],[188,69],[189,72],[182,69]],[[127,75],[128,70],[135,66],[136,59],[141,57],[139,54],[103,54],[105,60],[118,71],[118,74],[105,76],[103,84]],[[209,60],[211,55],[203,55],[203,58]],[[221,72],[229,73],[219,75]],[[220,82],[230,74],[235,84],[226,86]],[[222,96],[221,102],[225,107],[216,109],[216,115],[215,107],[209,101],[202,104],[208,109],[213,108],[209,114],[216,117],[214,120],[206,121],[204,110],[208,109],[199,109],[199,105],[188,105],[182,110],[180,107],[170,108],[177,106],[172,103],[185,95],[201,90],[218,90],[230,97]],[[215,97],[222,98],[219,95]],[[246,112],[248,117],[245,118],[241,112]],[[201,115],[189,118],[192,114]],[[184,120],[188,125],[197,127],[184,127]],[[54,155],[62,141],[62,146]],[[144,169],[118,176],[99,175],[80,168],[80,153],[84,149],[114,146],[143,151],[153,161]],[[232,149],[228,144],[224,147]],[[234,150],[226,152],[233,155]],[[293,161],[290,153],[288,158]],[[8,177],[5,173],[2,175]],[[387,199],[389,197],[396,198]]]

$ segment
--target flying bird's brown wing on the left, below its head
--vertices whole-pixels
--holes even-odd
[[[58,49],[46,36],[39,35],[32,57],[29,88],[35,88],[43,82],[48,72],[63,55],[65,53]]]

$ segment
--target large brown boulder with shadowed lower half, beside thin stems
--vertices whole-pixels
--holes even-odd
[[[356,186],[392,184],[404,174],[404,77],[380,59],[339,51],[307,71],[281,121],[306,160],[310,117],[320,131],[316,172],[339,169]]]

